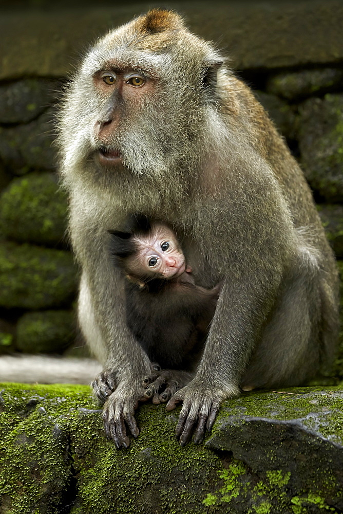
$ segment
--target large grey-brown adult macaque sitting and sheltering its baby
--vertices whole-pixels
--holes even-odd
[[[337,272],[311,192],[250,89],[172,11],[154,9],[87,54],[60,120],[79,320],[104,371],[94,391],[118,448],[150,361],[127,327],[107,228],[139,211],[177,230],[197,284],[223,279],[177,436],[200,442],[243,389],[295,386],[332,356]]]

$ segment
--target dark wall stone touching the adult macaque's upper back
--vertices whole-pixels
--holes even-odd
[[[280,133],[287,139],[296,136],[295,114],[290,105],[276,95],[254,91],[257,100],[263,105],[270,118],[274,121]]]

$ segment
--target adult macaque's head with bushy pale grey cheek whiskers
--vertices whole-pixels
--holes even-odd
[[[65,171],[92,180],[106,175],[116,186],[129,179],[123,171],[161,182],[176,169],[197,169],[207,108],[214,108],[213,100],[206,104],[204,77],[218,56],[173,20],[151,29],[137,19],[86,56],[62,109]]]

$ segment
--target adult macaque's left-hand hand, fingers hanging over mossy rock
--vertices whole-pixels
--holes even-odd
[[[125,423],[135,438],[139,435],[135,409],[138,407],[138,400],[142,396],[141,388],[140,380],[133,385],[132,383],[123,383],[108,396],[105,402],[102,414],[105,433],[107,439],[112,439],[118,449],[128,448],[130,444]],[[132,391],[135,392],[132,393]]]

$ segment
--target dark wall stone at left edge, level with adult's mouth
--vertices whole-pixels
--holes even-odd
[[[53,108],[26,125],[0,127],[0,158],[14,174],[57,168],[53,141]]]

